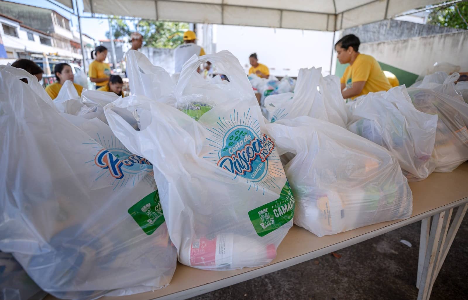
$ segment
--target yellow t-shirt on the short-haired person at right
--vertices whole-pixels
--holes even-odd
[[[351,88],[353,82],[366,81],[362,92],[351,99],[368,93],[388,91],[392,88],[377,60],[362,53],[359,53],[352,65],[346,67],[340,81],[346,84],[346,88]]]

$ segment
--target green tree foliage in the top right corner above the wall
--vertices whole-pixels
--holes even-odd
[[[429,14],[427,23],[431,25],[468,29],[468,2],[434,8]]]

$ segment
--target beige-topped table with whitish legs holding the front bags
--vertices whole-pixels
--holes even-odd
[[[450,173],[432,173],[427,179],[410,183],[409,186],[413,193],[413,214],[409,219],[382,222],[323,237],[293,226],[279,245],[278,255],[271,264],[235,271],[202,271],[177,264],[170,285],[163,289],[101,299],[187,299],[300,264],[421,220],[417,299],[429,299],[434,281],[468,208],[468,163]],[[454,208],[458,208],[455,213]],[[55,298],[49,295],[46,299]]]

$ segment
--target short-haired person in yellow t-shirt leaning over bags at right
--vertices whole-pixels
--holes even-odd
[[[341,94],[344,99],[388,91],[392,87],[377,60],[358,52],[360,43],[357,36],[347,35],[335,44],[338,61],[341,64],[350,64],[341,78]]]

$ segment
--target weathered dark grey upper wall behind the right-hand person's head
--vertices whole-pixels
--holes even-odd
[[[371,43],[408,39],[417,36],[453,33],[457,31],[462,30],[390,19],[345,29],[342,36],[353,34],[359,37],[361,43]]]

